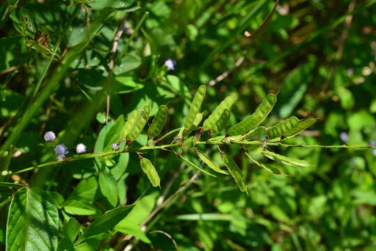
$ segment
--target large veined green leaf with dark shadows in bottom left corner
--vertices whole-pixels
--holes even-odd
[[[59,213],[39,188],[19,190],[10,203],[6,227],[7,251],[57,249]]]

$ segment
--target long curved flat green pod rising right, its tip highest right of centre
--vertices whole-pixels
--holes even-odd
[[[228,130],[229,135],[242,135],[256,126],[260,125],[264,119],[269,115],[271,109],[273,109],[274,105],[276,104],[277,96],[274,94],[268,94],[262,103],[257,107],[256,111],[248,116],[243,121],[237,123],[235,126],[232,126]]]

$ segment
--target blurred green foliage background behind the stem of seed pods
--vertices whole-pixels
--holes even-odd
[[[58,141],[71,152],[80,142],[94,151],[105,125],[106,93],[110,93],[110,121],[148,104],[155,114],[167,103],[170,116],[163,131],[179,128],[200,84],[208,86],[204,109],[213,110],[232,92],[239,94],[231,126],[253,112],[267,93],[278,93],[266,126],[293,115],[319,119],[287,142],[376,144],[376,1],[281,0],[270,22],[256,34],[273,10],[273,1],[124,2],[132,3],[128,10],[134,11],[108,15],[100,33],[70,63],[58,87],[22,130],[10,170],[54,160],[51,146],[43,143],[47,130],[59,134]],[[75,4],[1,3],[0,144],[32,105],[36,83],[61,34],[59,56],[52,61],[47,80],[70,48],[85,41],[96,15],[105,11],[80,7],[63,33],[73,13],[70,5]],[[24,17],[30,19],[27,24]],[[121,20],[125,29],[108,78]],[[174,70],[164,66],[167,59],[176,61]],[[40,88],[44,86],[45,82]],[[145,144],[146,135],[137,142]],[[213,160],[220,159],[216,147],[203,150]],[[148,222],[147,238],[155,248],[174,250],[170,238],[153,232],[160,230],[170,234],[181,250],[376,250],[375,151],[273,148],[312,165],[270,164],[289,175],[285,177],[251,164],[238,146],[226,150],[241,167],[249,195],[239,192],[230,177],[200,174]],[[140,213],[133,215],[137,224],[151,213],[167,186],[167,195],[172,195],[195,173],[173,153],[148,155],[160,173],[161,189],[148,187],[137,155],[108,160],[108,167],[121,162],[126,172],[118,180],[126,194],[123,200],[132,203],[147,188]],[[93,175],[95,162],[85,160],[13,176],[13,181],[18,178],[67,198],[77,183]],[[6,207],[0,217],[3,244]],[[117,230],[130,234],[121,227]],[[142,241],[133,244],[135,250],[150,249]],[[114,248],[108,244],[107,250],[110,246]]]

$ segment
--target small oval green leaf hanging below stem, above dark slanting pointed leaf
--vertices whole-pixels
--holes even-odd
[[[112,206],[116,206],[118,201],[117,183],[110,170],[103,165],[99,174],[100,192],[106,197]]]

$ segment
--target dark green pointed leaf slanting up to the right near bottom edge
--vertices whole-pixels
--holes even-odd
[[[82,243],[82,241],[91,236],[102,234],[112,229],[116,224],[123,220],[123,218],[126,218],[126,215],[128,215],[133,206],[135,205],[119,206],[118,208],[114,208],[103,215],[100,215],[96,220],[91,222],[87,229],[85,229],[84,234],[82,234],[82,236],[76,241],[76,245]]]

